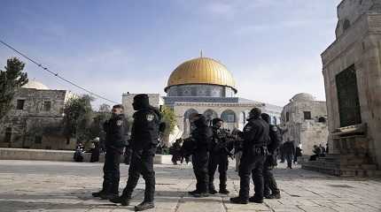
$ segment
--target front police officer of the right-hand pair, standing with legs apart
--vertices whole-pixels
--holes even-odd
[[[244,152],[239,166],[240,190],[239,196],[230,198],[237,204],[247,204],[249,201],[250,175],[253,174],[255,194],[250,201],[263,202],[263,163],[267,155],[268,123],[260,118],[261,110],[253,108],[250,111],[248,123],[240,133],[244,139]]]

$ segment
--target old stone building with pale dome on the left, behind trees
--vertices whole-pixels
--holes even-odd
[[[69,91],[29,80],[0,123],[0,147],[74,149],[75,141],[62,136],[64,104],[72,96]]]

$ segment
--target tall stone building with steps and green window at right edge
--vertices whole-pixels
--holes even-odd
[[[322,61],[329,147],[335,155],[315,168],[381,175],[376,170],[381,164],[381,1],[338,5],[336,41],[323,51]]]

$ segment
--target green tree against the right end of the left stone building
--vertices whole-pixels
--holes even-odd
[[[78,141],[91,139],[89,126],[93,117],[91,102],[94,98],[89,95],[71,98],[65,104],[64,134],[66,139],[76,138]]]

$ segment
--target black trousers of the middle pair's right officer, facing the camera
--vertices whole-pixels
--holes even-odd
[[[209,175],[209,189],[214,188],[214,173],[218,167],[218,173],[220,174],[220,190],[226,189],[229,160],[228,155],[223,153],[211,153],[209,155],[208,175]]]

